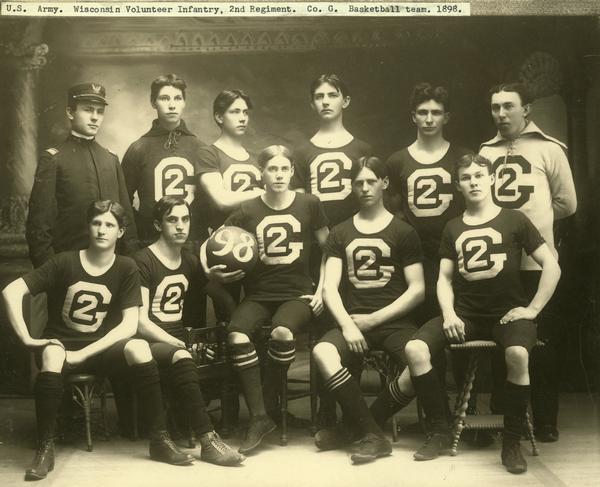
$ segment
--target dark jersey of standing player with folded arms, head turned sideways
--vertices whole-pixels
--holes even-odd
[[[245,161],[238,161],[228,156],[214,145],[204,147],[200,151],[197,174],[216,172],[223,177],[223,184],[228,191],[251,191],[261,187],[261,173],[258,164],[252,156]],[[219,228],[228,214],[219,210],[212,201],[210,207],[209,225],[213,230]]]

